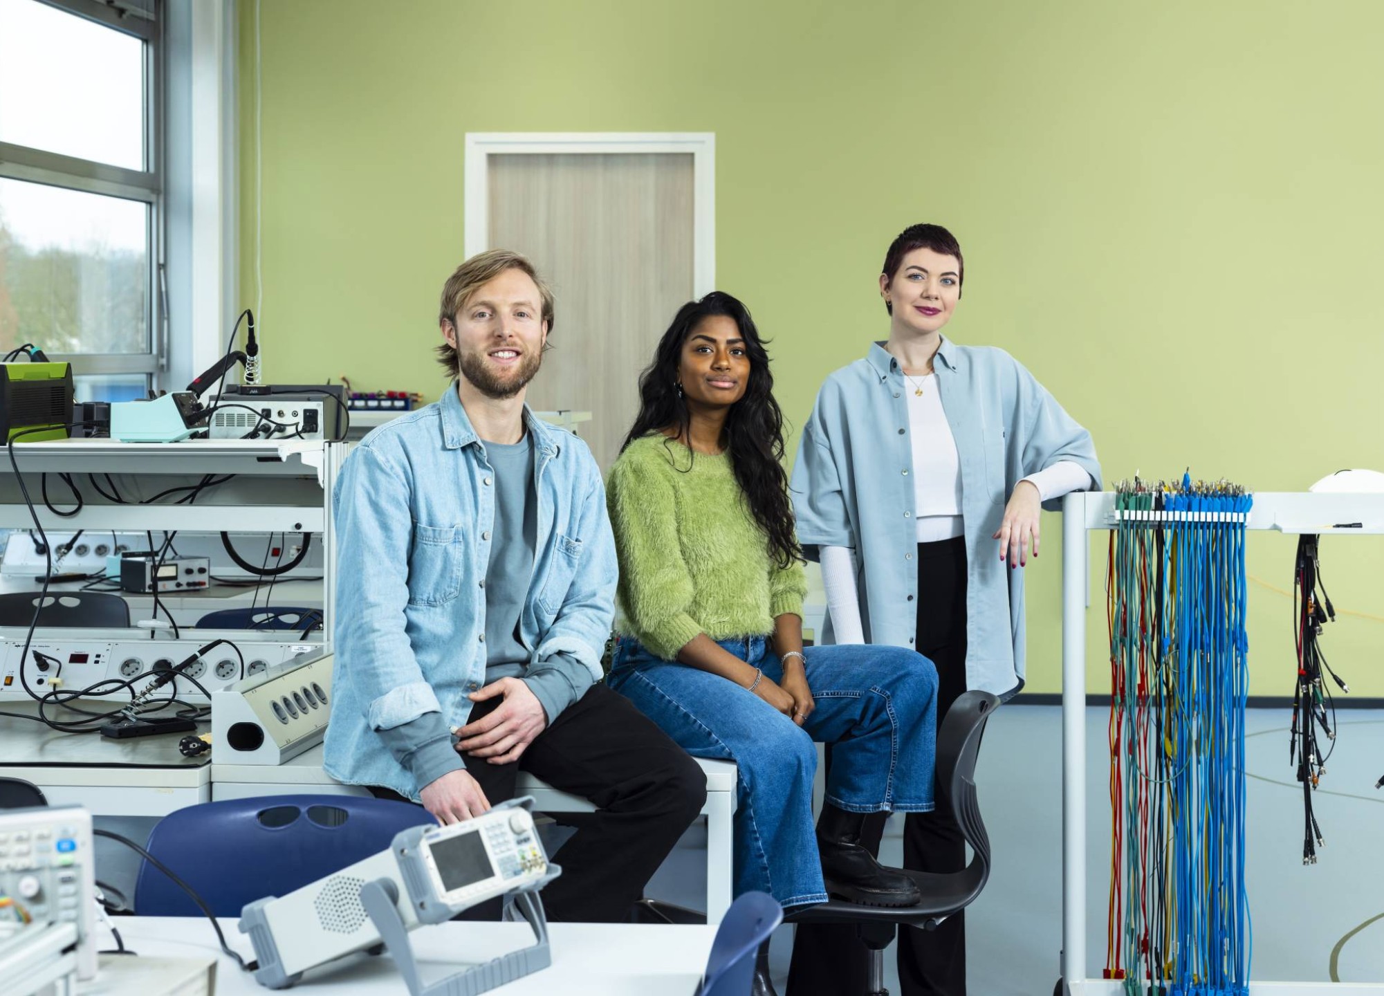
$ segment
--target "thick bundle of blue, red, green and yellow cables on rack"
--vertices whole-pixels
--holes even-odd
[[[1117,488],[1110,948],[1128,996],[1248,996],[1244,540],[1226,481]]]

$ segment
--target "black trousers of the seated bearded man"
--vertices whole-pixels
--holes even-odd
[[[476,703],[479,719],[501,699]],[[549,920],[623,923],[644,885],[706,802],[706,773],[686,751],[605,685],[594,685],[556,722],[534,737],[518,761],[504,765],[462,754],[466,771],[491,805],[515,797],[519,772],[590,800],[597,812],[563,813],[577,827],[552,862],[562,876],[543,889]],[[390,788],[371,788],[401,798]],[[500,905],[483,903],[465,919],[495,920]]]

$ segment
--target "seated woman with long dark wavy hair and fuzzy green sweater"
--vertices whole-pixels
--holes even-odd
[[[720,292],[684,304],[639,391],[606,491],[610,686],[692,755],[739,766],[736,894],[916,903],[858,840],[865,813],[933,809],[937,672],[901,647],[804,650],[783,418],[745,306]],[[814,740],[836,744],[815,840]]]

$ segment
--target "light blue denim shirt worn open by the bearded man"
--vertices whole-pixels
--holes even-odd
[[[537,664],[566,653],[599,681],[617,566],[605,486],[587,444],[525,408],[537,447],[538,534],[519,634]],[[336,624],[327,773],[417,798],[378,730],[471,714],[486,676],[494,480],[455,387],[375,429],[334,492]]]

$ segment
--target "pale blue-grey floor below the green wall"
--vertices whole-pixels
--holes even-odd
[[[1109,819],[1106,710],[1091,708],[1088,740],[1088,971],[1099,978],[1106,952]],[[1384,712],[1342,711],[1337,748],[1316,793],[1326,847],[1304,867],[1302,798],[1289,766],[1289,714],[1251,710],[1248,717],[1250,903],[1255,981],[1384,979]],[[981,996],[1048,996],[1062,946],[1062,711],[1008,706],[985,730],[977,769],[981,812],[994,869],[967,913],[970,992]],[[101,820],[143,842],[151,820]],[[111,845],[111,847],[105,847]],[[702,907],[704,831],[693,827],[650,883],[649,894]],[[97,869],[112,884],[133,884],[136,860],[100,841]],[[883,859],[901,860],[891,822]],[[771,966],[783,992],[792,928],[774,938]],[[898,992],[893,949],[886,953],[890,990]]]

